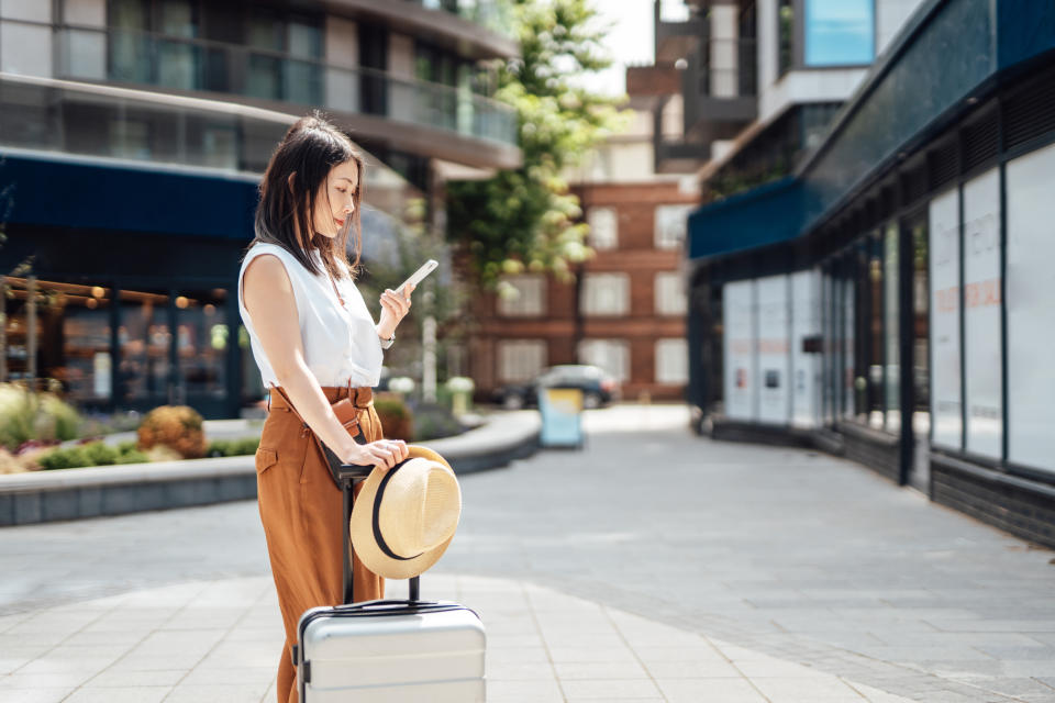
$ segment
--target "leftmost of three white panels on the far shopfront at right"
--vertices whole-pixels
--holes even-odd
[[[725,415],[732,420],[756,420],[754,281],[726,283],[722,298]]]

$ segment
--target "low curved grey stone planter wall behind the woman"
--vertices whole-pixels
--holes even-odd
[[[534,411],[495,416],[454,437],[422,442],[457,473],[496,469],[538,449]],[[256,498],[253,456],[125,464],[0,476],[0,526],[124,515]]]

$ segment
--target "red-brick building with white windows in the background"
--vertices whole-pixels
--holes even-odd
[[[506,295],[477,300],[470,371],[479,394],[521,383],[546,366],[592,364],[623,398],[681,399],[688,379],[681,272],[685,223],[699,202],[676,175],[656,174],[652,118],[636,111],[564,176],[590,225],[595,255],[575,281],[542,274],[506,277]]]

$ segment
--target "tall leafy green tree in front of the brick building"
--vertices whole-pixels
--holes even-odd
[[[560,172],[633,115],[617,109],[620,98],[574,85],[612,63],[601,47],[611,24],[589,0],[515,0],[513,22],[521,55],[497,66],[496,98],[515,110],[523,165],[447,185],[447,238],[488,287],[524,269],[567,279],[569,264],[590,255]]]

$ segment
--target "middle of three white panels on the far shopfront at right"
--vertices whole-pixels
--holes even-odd
[[[788,277],[758,279],[758,420],[790,421]]]

